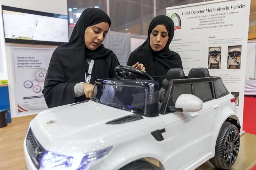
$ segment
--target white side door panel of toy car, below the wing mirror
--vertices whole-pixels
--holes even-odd
[[[175,112],[160,115],[166,124],[166,131],[171,141],[170,162],[173,169],[184,169],[184,167],[181,167],[181,165],[184,165],[184,160],[191,162],[203,156],[209,149],[212,137],[210,133],[213,126],[212,120],[219,112],[218,108],[212,108],[213,104],[217,105],[218,101],[214,99],[204,102],[203,109],[194,118],[191,117],[192,114],[195,114],[194,112]]]

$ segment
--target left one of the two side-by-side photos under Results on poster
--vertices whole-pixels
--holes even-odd
[[[220,69],[221,47],[209,47],[208,69]]]

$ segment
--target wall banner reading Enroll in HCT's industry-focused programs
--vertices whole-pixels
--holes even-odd
[[[47,109],[42,90],[54,49],[12,48],[17,115]]]

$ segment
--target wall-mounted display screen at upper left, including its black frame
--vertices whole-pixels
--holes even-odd
[[[2,5],[5,42],[60,45],[68,42],[68,16]]]

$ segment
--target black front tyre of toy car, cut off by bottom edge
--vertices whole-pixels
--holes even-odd
[[[149,163],[145,161],[134,161],[125,165],[119,170],[155,170]]]

